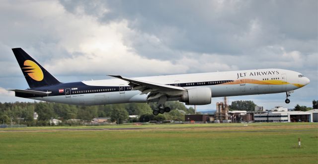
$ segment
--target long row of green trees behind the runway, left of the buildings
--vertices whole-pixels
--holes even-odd
[[[132,119],[130,122],[143,122],[144,118],[151,117],[152,120],[176,120],[183,121],[184,114],[194,113],[192,107],[186,108],[178,101],[166,102],[171,108],[169,113],[151,116],[157,104],[151,103],[127,103],[112,105],[80,106],[50,102],[15,102],[0,103],[1,124],[13,123],[26,124],[28,126],[49,125],[48,120],[55,118],[66,123],[69,119],[80,119],[90,121],[95,117],[110,117],[112,122],[122,123],[129,119],[129,115],[139,115],[141,120]],[[38,114],[37,120],[33,114]],[[148,120],[148,119],[147,119]]]

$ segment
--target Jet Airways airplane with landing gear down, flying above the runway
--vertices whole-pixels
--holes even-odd
[[[154,115],[169,112],[166,101],[187,105],[210,104],[212,97],[286,92],[286,103],[293,90],[309,84],[298,72],[283,69],[257,69],[199,74],[166,75],[60,82],[21,48],[13,54],[30,88],[10,89],[15,96],[76,105],[103,105],[130,102],[155,102]]]

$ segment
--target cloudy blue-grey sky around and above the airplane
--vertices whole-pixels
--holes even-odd
[[[272,108],[318,99],[317,0],[1,0],[0,101],[30,101],[11,48],[61,82],[280,68],[311,80],[285,93],[229,97]],[[215,109],[222,98],[199,110]]]

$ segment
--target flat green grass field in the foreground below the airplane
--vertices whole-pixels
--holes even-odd
[[[143,129],[129,129],[136,127]],[[60,130],[62,128],[67,130]],[[82,130],[74,130],[79,128]],[[110,130],[111,128],[127,130]],[[299,137],[302,141],[301,148],[298,148]],[[0,129],[0,164],[11,163],[317,164],[318,124]]]

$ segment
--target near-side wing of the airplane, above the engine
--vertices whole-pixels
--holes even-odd
[[[147,94],[152,91],[167,92],[167,91],[185,90],[183,87],[180,87],[180,86],[166,85],[166,84],[155,83],[155,82],[147,82],[147,81],[142,81],[142,80],[133,79],[133,78],[125,78],[119,75],[108,75],[108,76],[129,82],[129,85],[132,86],[132,90],[140,90],[142,92],[141,94]]]

